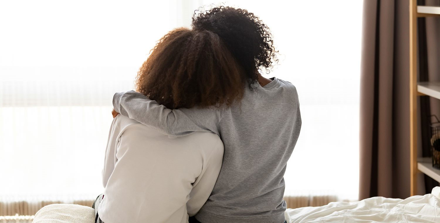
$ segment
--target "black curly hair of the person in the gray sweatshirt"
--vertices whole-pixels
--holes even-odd
[[[266,68],[269,72],[278,62],[269,27],[246,9],[219,6],[195,11],[192,27],[220,36],[252,82],[258,78],[256,69]]]

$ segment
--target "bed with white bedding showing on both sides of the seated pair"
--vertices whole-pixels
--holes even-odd
[[[55,204],[40,209],[33,223],[93,223],[94,217],[90,207]],[[374,197],[287,209],[286,220],[288,223],[440,223],[440,187],[435,187],[431,194],[406,199]]]

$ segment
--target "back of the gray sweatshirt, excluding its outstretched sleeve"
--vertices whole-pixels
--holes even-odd
[[[256,86],[219,123],[223,165],[201,222],[284,222],[283,176],[301,129],[297,91],[276,78]]]

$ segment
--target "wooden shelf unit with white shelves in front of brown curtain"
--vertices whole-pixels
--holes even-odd
[[[440,99],[440,82],[417,83],[417,18],[440,16],[440,7],[418,6],[410,0],[410,172],[411,196],[417,195],[417,173],[425,173],[440,182],[440,170],[432,166],[431,158],[417,156],[417,97],[428,95]]]

